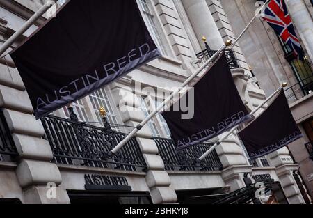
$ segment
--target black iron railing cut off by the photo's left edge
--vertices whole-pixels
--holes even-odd
[[[0,161],[9,161],[11,157],[17,155],[15,143],[12,139],[6,118],[4,118],[3,111],[0,109]]]

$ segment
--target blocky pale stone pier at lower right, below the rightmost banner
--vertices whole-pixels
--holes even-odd
[[[272,166],[275,166],[275,171],[280,179],[282,189],[291,204],[304,204],[305,201],[298,189],[296,180],[294,180],[293,171],[298,170],[298,164],[294,164],[293,159],[289,156],[287,147],[276,150],[268,155]]]

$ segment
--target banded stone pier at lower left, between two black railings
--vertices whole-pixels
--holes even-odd
[[[42,139],[45,130],[35,120],[29,96],[19,72],[0,64],[0,107],[17,148],[16,175],[23,189],[23,203],[70,203],[50,145]]]

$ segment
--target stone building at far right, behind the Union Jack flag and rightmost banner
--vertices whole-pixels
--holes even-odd
[[[232,17],[230,25],[235,30],[234,33],[239,34],[263,1],[222,0],[220,3],[228,17]],[[298,173],[303,178],[307,192],[312,196],[313,5],[312,1],[307,0],[286,0],[285,3],[305,50],[304,62],[290,58],[290,50],[283,45],[273,29],[259,18],[240,40],[239,45],[266,95],[273,93],[282,82],[288,83],[285,93],[289,106],[305,136],[291,143],[288,148],[294,161],[300,165]]]

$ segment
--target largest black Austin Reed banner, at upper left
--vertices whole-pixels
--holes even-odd
[[[40,118],[160,53],[135,0],[74,0],[10,55]]]

